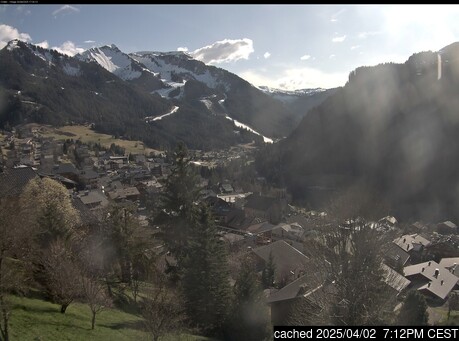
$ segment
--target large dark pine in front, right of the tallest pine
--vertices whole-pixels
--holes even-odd
[[[222,335],[230,307],[226,250],[209,209],[199,210],[193,226],[182,279],[185,307],[193,325],[208,335]]]

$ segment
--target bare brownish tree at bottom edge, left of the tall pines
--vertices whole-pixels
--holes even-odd
[[[181,308],[178,292],[168,287],[167,278],[157,273],[152,286],[146,291],[141,311],[145,328],[157,341],[161,336],[179,331],[184,324],[185,312]]]

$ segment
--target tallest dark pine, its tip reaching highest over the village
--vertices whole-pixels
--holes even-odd
[[[179,143],[172,155],[172,172],[167,178],[157,222],[163,225],[162,237],[179,266],[186,255],[195,203],[199,198],[196,173],[190,165],[188,150]]]

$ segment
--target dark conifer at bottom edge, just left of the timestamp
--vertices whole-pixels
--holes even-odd
[[[234,285],[230,340],[267,340],[271,334],[268,307],[249,259],[242,262]]]

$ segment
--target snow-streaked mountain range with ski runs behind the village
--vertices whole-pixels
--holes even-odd
[[[151,147],[182,140],[223,148],[287,136],[327,90],[285,101],[184,52],[124,53],[115,45],[74,57],[13,40],[0,51],[0,127],[94,123]],[[314,95],[317,94],[317,97]]]

